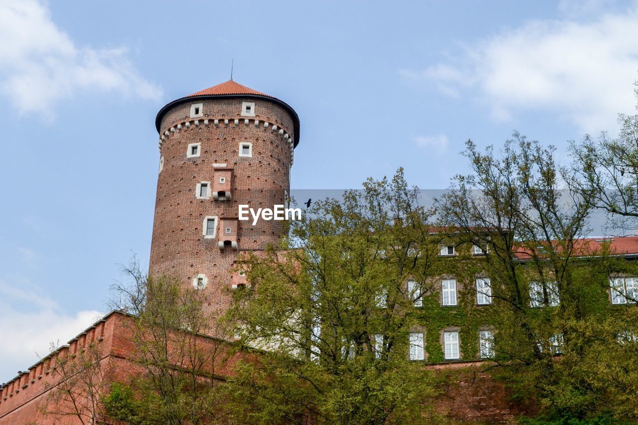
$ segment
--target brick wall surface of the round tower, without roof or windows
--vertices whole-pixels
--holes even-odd
[[[244,99],[245,100],[245,99]],[[251,100],[253,101],[253,100]],[[293,133],[293,120],[274,101],[254,100],[255,117],[242,117],[242,99],[193,100],[171,108],[163,116],[161,133],[169,131],[170,137],[161,145],[163,169],[159,172],[156,207],[151,242],[151,276],[168,274],[181,278],[191,285],[197,274],[205,274],[209,299],[205,315],[218,316],[230,302],[232,269],[237,254],[246,250],[263,250],[267,244],[276,244],[282,232],[281,221],[238,221],[235,250],[220,250],[220,232],[224,229],[218,221],[217,237],[206,239],[202,235],[204,218],[217,216],[237,218],[238,205],[247,204],[253,209],[284,203],[284,191],[288,187],[291,162],[289,144],[279,131],[272,131],[272,124]],[[189,117],[191,103],[203,103],[204,117],[198,118],[198,126],[189,128],[177,125],[194,119]],[[235,125],[234,119],[239,119]],[[209,125],[204,125],[204,119]],[[215,126],[213,120],[218,119]],[[228,124],[224,119],[229,119]],[[249,119],[248,125],[244,119]],[[255,120],[259,121],[255,126]],[[269,128],[263,123],[269,122]],[[174,132],[170,129],[173,128]],[[200,156],[187,158],[191,143],[201,144]],[[251,158],[239,156],[239,143],[251,142]],[[197,199],[195,188],[202,181],[214,181],[221,167],[213,163],[225,163],[232,168],[232,200]],[[215,334],[214,330],[210,330]]]

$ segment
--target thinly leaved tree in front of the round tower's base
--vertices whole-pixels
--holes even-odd
[[[202,334],[214,323],[211,313],[204,313],[207,295],[177,278],[146,276],[135,261],[125,271],[132,279],[115,285],[114,306],[131,314],[128,331],[136,349],[130,360],[142,373],[131,382],[117,383],[107,396],[108,413],[134,423],[216,421],[220,409],[215,366],[223,343],[202,343]]]

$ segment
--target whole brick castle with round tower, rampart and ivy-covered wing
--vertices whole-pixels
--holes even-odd
[[[159,169],[149,275],[179,278],[189,290],[204,292],[209,302],[203,314],[217,317],[230,306],[232,290],[248,285],[236,267],[239,256],[277,244],[285,230],[283,221],[258,220],[253,225],[252,220],[239,220],[239,205],[256,210],[287,204],[299,117],[284,101],[229,80],[168,103],[159,110],[155,124]],[[619,258],[638,256],[638,237],[583,239],[577,256],[590,257],[589,248],[598,245]],[[421,294],[418,282],[406,282],[423,325],[410,331],[406,355],[456,380],[458,385],[447,387],[435,408],[463,422],[511,421],[526,413],[526,406],[511,403],[504,385],[482,370],[482,362],[494,354],[492,328],[463,323],[464,306],[471,306],[475,315],[482,312],[486,321],[489,318],[493,303],[490,279],[494,276],[464,272],[458,265],[464,258],[488,254],[487,247],[480,244],[441,245],[438,257],[447,262],[449,273],[434,280],[436,290]],[[523,262],[530,259],[526,251],[516,256]],[[629,274],[609,277],[602,302],[616,307],[635,304],[638,278]],[[530,282],[530,308],[552,308],[560,303],[554,286],[552,282]],[[443,312],[442,319],[427,328],[428,315],[433,312]],[[83,423],[73,415],[45,413],[70,408],[51,401],[55,385],[61,382],[57,365],[100,345],[101,379],[107,385],[137,376],[141,371],[131,359],[135,351],[130,338],[133,320],[112,311],[0,385],[0,425]],[[197,345],[230,344],[212,326],[207,333],[198,335]],[[382,338],[375,336],[375,350]],[[552,338],[558,350],[561,336]],[[232,367],[244,354],[234,353],[225,364],[211,367],[219,376],[231,376]],[[88,394],[78,394],[77,401],[80,405],[91,402]]]

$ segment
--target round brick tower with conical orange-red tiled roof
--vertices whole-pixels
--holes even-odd
[[[204,313],[216,315],[228,306],[229,290],[246,283],[232,272],[238,255],[276,244],[283,231],[283,221],[238,220],[239,205],[285,204],[299,117],[285,102],[230,80],[168,103],[155,123],[160,160],[149,274],[205,291]]]

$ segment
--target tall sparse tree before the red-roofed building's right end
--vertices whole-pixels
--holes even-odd
[[[438,207],[461,239],[488,248],[494,373],[550,416],[637,417],[635,403],[627,403],[634,398],[635,373],[626,363],[634,342],[616,338],[635,326],[607,294],[609,276],[635,274],[636,267],[612,258],[609,242],[582,241],[591,191],[561,190],[561,177],[572,175],[556,164],[553,149],[517,133],[500,153],[480,153],[471,141],[466,148],[471,174],[457,175]]]

